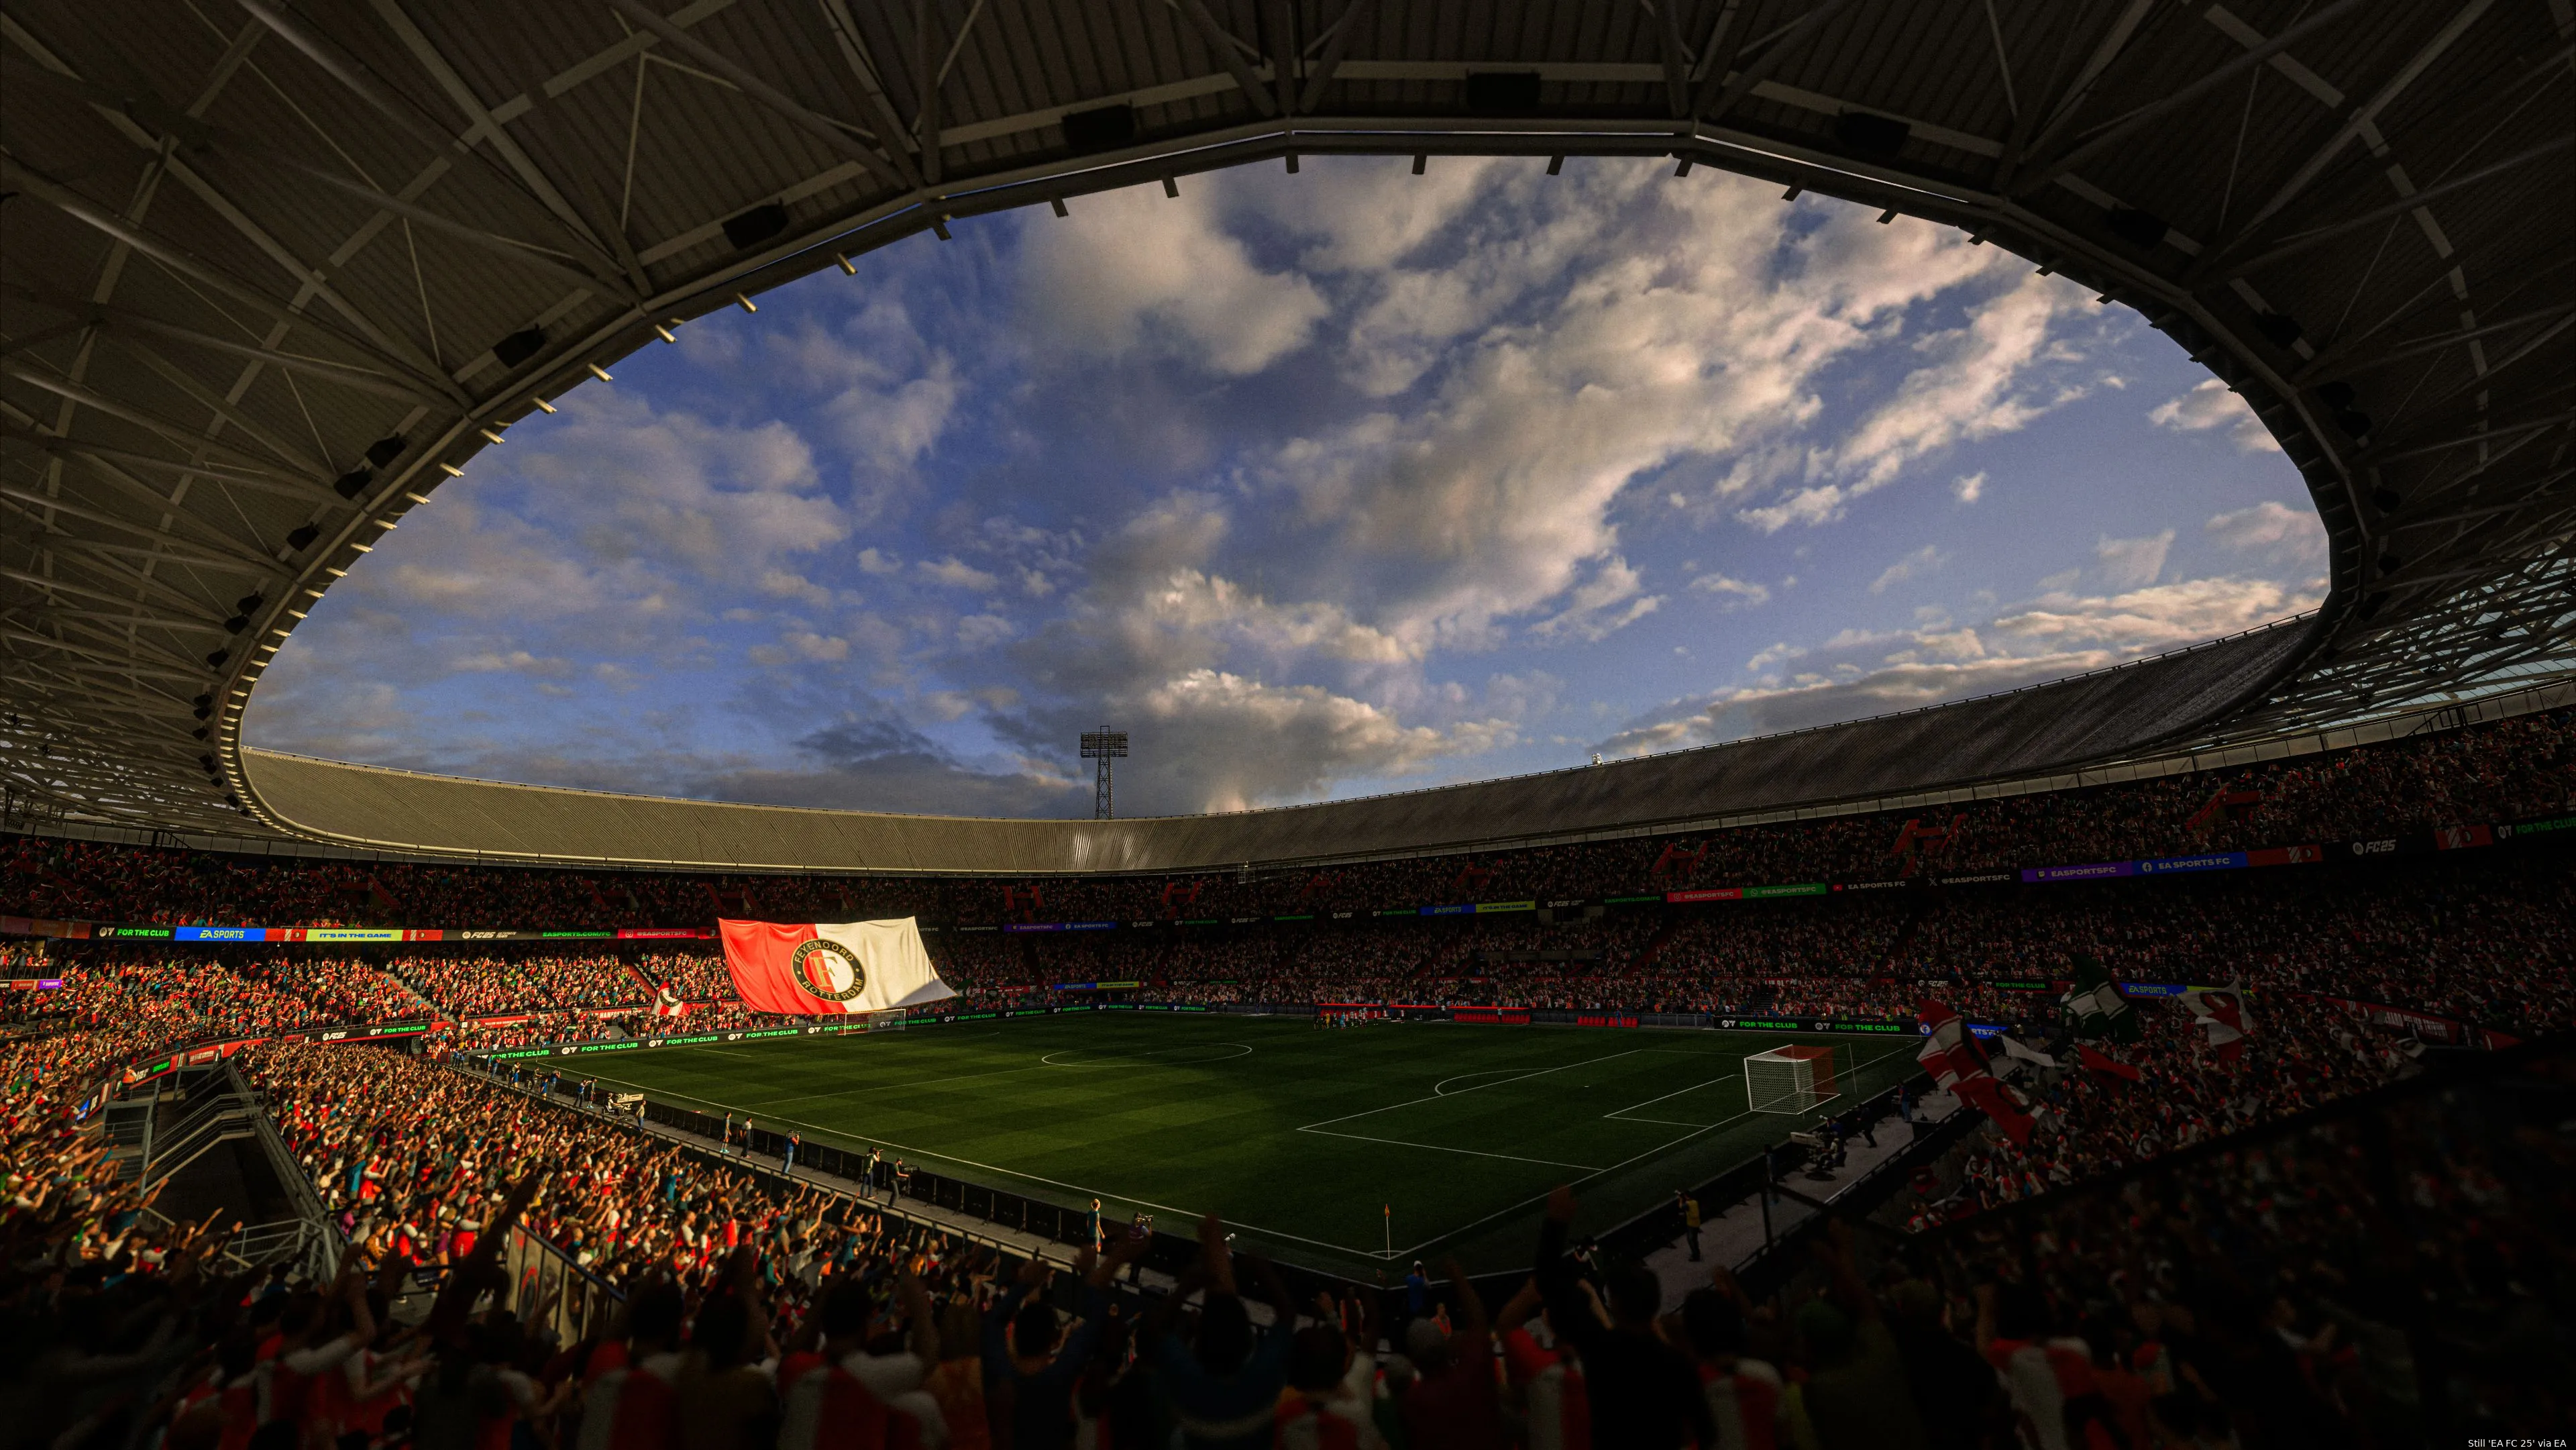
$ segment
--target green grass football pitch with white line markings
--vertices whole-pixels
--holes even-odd
[[[1834,1048],[1839,1097],[1752,1113],[1744,1059]],[[567,1077],[1360,1275],[1525,1262],[1548,1187],[1610,1229],[1917,1071],[1906,1038],[1079,1015],[567,1056]]]

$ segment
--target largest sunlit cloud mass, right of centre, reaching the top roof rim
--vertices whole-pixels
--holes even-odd
[[[1463,255],[1419,247],[1437,265],[1388,268],[1345,343],[1352,376],[1394,368],[1406,386],[1419,358],[1445,358],[1417,389],[1427,397],[1319,430],[1275,461],[1306,518],[1334,536],[1340,598],[1388,634],[1450,649],[1499,644],[1512,616],[1546,610],[1543,636],[1605,618],[1571,595],[1615,579],[1613,505],[1636,479],[1718,474],[1682,494],[1700,510],[1762,487],[1798,466],[1783,446],[1824,407],[1819,371],[1886,340],[1917,301],[2020,268],[1955,229],[1875,227],[1847,206],[1783,240],[1777,193],[1749,180],[1669,188],[1631,165],[1484,175],[1497,206],[1528,221]],[[1458,224],[1484,242],[1479,227]],[[1641,242],[1662,237],[1672,242]],[[1953,433],[2032,412],[2012,402],[2009,373],[2038,350],[2056,301],[2014,283],[1958,337],[1940,335],[1927,373],[1973,373],[1994,394],[1984,420]],[[1945,394],[1914,407],[1963,404]],[[1899,433],[1878,422],[1870,448],[1932,446]],[[1826,484],[1772,507],[1780,523],[1821,520],[1844,497]]]

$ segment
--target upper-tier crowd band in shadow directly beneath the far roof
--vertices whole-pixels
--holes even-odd
[[[54,837],[0,847],[39,917],[224,925],[706,927],[716,917],[930,922],[1226,919],[1437,901],[1605,899],[1708,883],[1883,881],[2383,837],[2571,809],[2576,713],[1937,811],[1824,816],[1700,837],[1443,855],[1334,871],[920,881],[688,876],[219,858]]]

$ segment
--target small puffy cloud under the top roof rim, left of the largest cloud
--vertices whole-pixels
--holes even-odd
[[[1296,273],[1265,273],[1213,196],[1136,185],[1090,196],[1069,219],[1033,216],[1020,250],[1030,314],[1072,348],[1162,348],[1226,376],[1303,348],[1329,304]]]

